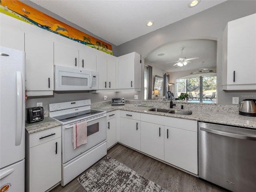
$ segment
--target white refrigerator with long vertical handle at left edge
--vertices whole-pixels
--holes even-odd
[[[0,191],[25,187],[25,52],[0,47]]]

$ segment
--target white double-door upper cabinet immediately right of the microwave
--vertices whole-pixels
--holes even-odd
[[[103,52],[97,54],[98,88],[116,88],[116,57]]]

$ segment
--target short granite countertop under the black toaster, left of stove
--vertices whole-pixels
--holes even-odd
[[[26,122],[26,131],[28,132],[28,134],[32,134],[38,131],[42,131],[42,130],[46,130],[46,129],[50,129],[56,126],[60,126],[61,123],[54,120],[53,118],[50,117],[44,117],[44,120],[42,121],[38,121],[38,122],[34,122],[34,123],[27,123]]]

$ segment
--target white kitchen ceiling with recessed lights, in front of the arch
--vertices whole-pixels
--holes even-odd
[[[31,0],[118,46],[225,0]],[[148,21],[154,22],[151,27]]]

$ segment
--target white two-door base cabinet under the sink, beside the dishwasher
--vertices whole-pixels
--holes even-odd
[[[141,126],[141,149],[146,154],[156,158],[160,157],[159,159],[163,160],[161,151],[163,150],[165,162],[198,174],[197,121],[142,113]],[[158,131],[159,137],[159,127],[160,131],[164,127],[164,133],[160,132],[160,137],[161,135],[164,136],[163,140],[154,138],[151,134],[151,132]],[[144,133],[146,131],[148,133]],[[153,139],[156,140],[160,152],[156,151],[157,148],[154,147],[155,140]]]

